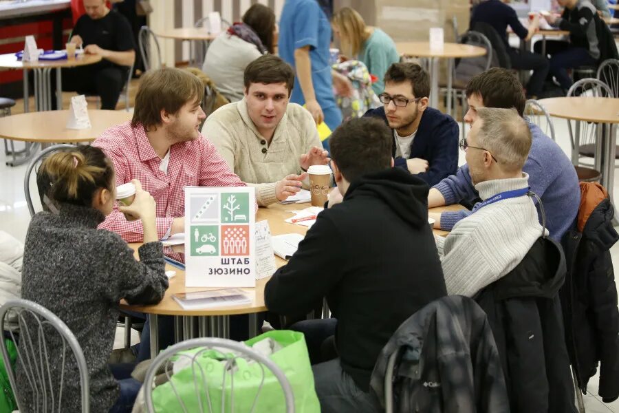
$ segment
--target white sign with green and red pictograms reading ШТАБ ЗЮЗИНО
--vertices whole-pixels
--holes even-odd
[[[185,187],[185,286],[256,286],[255,189]]]

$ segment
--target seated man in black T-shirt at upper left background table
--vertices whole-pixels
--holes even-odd
[[[69,41],[82,45],[87,54],[100,54],[102,61],[63,69],[63,90],[96,94],[101,109],[113,110],[135,61],[133,32],[127,18],[109,10],[105,0],[83,1],[86,14],[78,19]],[[56,104],[55,99],[52,102]]]

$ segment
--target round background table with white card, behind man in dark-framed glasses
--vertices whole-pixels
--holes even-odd
[[[438,105],[438,59],[447,59],[447,96],[451,96],[453,83],[453,59],[484,56],[484,47],[463,45],[460,43],[444,43],[442,49],[433,49],[428,41],[408,41],[395,43],[400,54],[430,59],[430,105]],[[447,112],[451,112],[451,99],[447,99]]]

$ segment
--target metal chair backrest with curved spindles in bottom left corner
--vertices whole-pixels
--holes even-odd
[[[15,373],[10,363],[8,350],[4,343],[0,346],[2,358],[15,394],[17,406],[20,412],[28,411],[28,405],[34,406],[36,412],[64,412],[63,395],[65,381],[74,381],[76,377],[67,374],[67,361],[74,357],[79,371],[80,392],[82,399],[82,412],[90,411],[89,401],[89,375],[86,359],[77,339],[61,319],[56,317],[50,310],[26,299],[14,299],[7,301],[0,307],[0,326],[5,330],[5,323],[9,317],[16,317],[19,323],[19,346],[17,346],[17,368],[23,371],[27,378],[32,399],[25,401],[20,394],[25,390],[18,387]],[[9,330],[11,339],[17,343],[14,332]],[[57,359],[51,357],[52,344],[50,337],[61,339],[61,350],[54,351],[61,354]],[[54,341],[57,346],[57,340]],[[55,366],[52,367],[52,364]],[[54,372],[61,372],[56,377]],[[24,385],[24,383],[21,383]],[[64,399],[63,399],[64,396]]]

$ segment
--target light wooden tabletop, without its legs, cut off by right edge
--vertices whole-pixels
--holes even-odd
[[[619,99],[591,96],[547,98],[539,103],[550,116],[594,123],[619,123]]]

